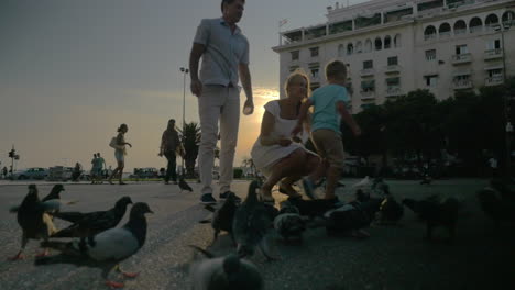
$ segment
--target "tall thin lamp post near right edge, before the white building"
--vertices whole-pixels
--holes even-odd
[[[503,49],[503,80],[504,80],[504,86],[507,85],[507,69],[506,69],[506,51],[504,46],[504,32],[508,31],[512,27],[512,20],[513,20],[513,14],[508,13],[506,21],[501,20],[501,23],[496,25],[494,29],[497,32],[501,32],[501,47]],[[509,178],[511,176],[511,166],[512,166],[512,149],[511,147],[511,134],[513,132],[513,126],[512,123],[509,122],[509,108],[508,108],[508,98],[509,96],[507,92],[505,92],[505,96],[503,98],[503,107],[504,107],[504,121],[505,121],[505,127],[504,127],[504,138],[505,138],[505,145],[506,145],[506,171],[505,175],[506,177]]]

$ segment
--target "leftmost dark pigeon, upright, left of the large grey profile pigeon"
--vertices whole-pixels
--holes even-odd
[[[47,212],[56,210],[53,208],[54,205],[53,203],[41,202],[37,196],[37,187],[35,185],[29,186],[29,193],[22,203],[17,207],[17,220],[22,228],[21,249],[14,257],[10,258],[11,260],[23,258],[23,250],[29,238],[47,241],[48,236],[56,232],[52,217],[47,214]],[[39,256],[46,256],[47,254],[48,250],[45,249]]]

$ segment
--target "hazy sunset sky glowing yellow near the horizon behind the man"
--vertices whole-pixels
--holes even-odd
[[[347,2],[347,1],[340,1]],[[365,2],[351,0],[350,4]],[[263,114],[278,98],[277,23],[283,30],[325,22],[326,0],[246,1],[240,26],[251,44],[256,110],[241,118],[234,165],[250,156]],[[157,156],[169,118],[182,125],[183,75],[196,27],[218,18],[220,0],[2,0],[0,1],[0,161],[18,168],[73,166],[90,169],[121,123],[132,143],[125,171],[164,167]],[[244,94],[241,96],[242,99]],[[243,102],[242,102],[243,103]],[[198,121],[186,79],[186,121]]]

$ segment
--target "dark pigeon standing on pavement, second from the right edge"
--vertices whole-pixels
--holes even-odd
[[[458,211],[460,202],[456,198],[447,198],[443,201],[438,201],[435,197],[416,201],[413,199],[404,199],[403,204],[415,212],[418,217],[426,222],[426,238],[431,241],[432,230],[437,226],[445,226],[449,231],[447,242],[452,242],[456,232],[456,222],[458,220]]]

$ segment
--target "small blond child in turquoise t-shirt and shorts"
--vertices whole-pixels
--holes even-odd
[[[350,101],[347,89],[343,87],[347,80],[347,67],[340,60],[330,62],[326,66],[327,86],[314,91],[313,96],[300,107],[297,125],[292,131],[293,135],[298,134],[307,115],[309,107],[315,111],[311,120],[311,141],[322,158],[320,166],[327,169],[327,186],[325,199],[333,203],[339,202],[335,196],[336,185],[343,168],[343,143],[341,141],[340,120],[352,130],[355,136],[361,134],[360,126],[346,109],[346,102]],[[303,178],[303,186],[306,194],[314,199],[314,180],[318,180],[316,170],[310,176]]]

